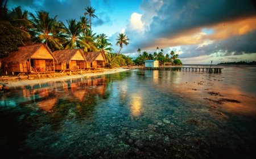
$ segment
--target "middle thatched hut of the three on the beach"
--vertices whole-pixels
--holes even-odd
[[[82,70],[85,68],[86,59],[81,49],[57,50],[54,51],[57,62],[56,70]]]

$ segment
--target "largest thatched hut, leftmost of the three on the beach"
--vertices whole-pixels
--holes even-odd
[[[55,56],[52,51],[43,43],[21,46],[18,51],[13,51],[3,58],[6,74],[7,72],[25,74],[55,72],[54,60]]]

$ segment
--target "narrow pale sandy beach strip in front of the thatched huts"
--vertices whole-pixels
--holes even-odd
[[[60,81],[60,80],[68,80],[68,79],[76,79],[76,78],[85,78],[85,76],[98,76],[98,75],[106,75],[106,74],[114,74],[114,73],[118,73],[118,72],[123,72],[123,71],[128,71],[130,69],[127,68],[113,68],[113,69],[108,69],[108,70],[104,70],[104,72],[89,72],[89,73],[85,73],[85,74],[79,74],[79,75],[62,75],[62,76],[57,76],[55,78],[47,78],[47,79],[19,79],[16,78],[18,80],[8,80],[8,78],[0,78],[0,84],[6,85],[7,87],[11,88],[15,88],[15,87],[20,87],[20,86],[24,86],[24,85],[30,85],[30,84],[39,84],[39,83],[47,83],[49,81]],[[10,79],[14,79],[14,77],[11,77]],[[6,81],[6,82],[4,82]]]

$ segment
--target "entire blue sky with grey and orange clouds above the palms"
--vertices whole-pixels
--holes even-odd
[[[163,54],[172,50],[183,64],[256,61],[256,6],[253,0],[9,0],[9,8],[47,11],[57,20],[80,20],[87,6],[93,33],[104,33],[117,52],[117,36],[129,45],[121,54],[138,57],[137,50]],[[87,16],[89,19],[89,16]]]

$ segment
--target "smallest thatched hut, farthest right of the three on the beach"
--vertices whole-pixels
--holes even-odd
[[[104,52],[87,52],[84,53],[88,64],[86,68],[104,68],[105,66],[105,55]]]

